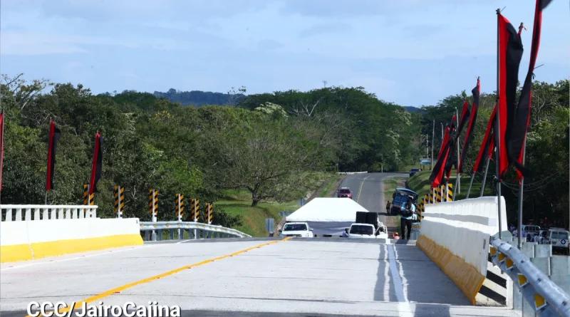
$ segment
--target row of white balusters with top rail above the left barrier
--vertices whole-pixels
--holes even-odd
[[[95,205],[2,204],[0,209],[3,213],[6,210],[4,220],[6,222],[97,218],[97,206]],[[24,211],[24,219],[22,219],[22,211]]]

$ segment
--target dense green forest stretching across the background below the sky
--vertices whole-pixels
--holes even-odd
[[[113,215],[113,186],[129,188],[125,217],[150,219],[148,189],[166,197],[215,202],[224,189],[251,194],[252,205],[285,202],[316,189],[327,172],[400,170],[425,157],[426,138],[435,155],[441,125],[460,111],[465,93],[437,105],[406,108],[380,100],[363,88],[328,87],[245,95],[180,92],[94,95],[83,85],[26,82],[3,76],[6,107],[4,204],[43,203],[48,123],[62,131],[51,204],[79,204],[88,182],[95,132],[103,135],[103,173],[96,204]],[[198,96],[198,97],[197,97]],[[470,171],[494,105],[482,94]],[[189,100],[194,102],[189,103]],[[527,141],[525,212],[538,219],[562,219],[569,211],[569,81],[534,83]],[[471,101],[471,100],[470,100]],[[198,105],[202,106],[187,106]],[[217,105],[211,105],[217,103]],[[465,129],[464,129],[465,132]],[[492,183],[494,166],[487,183]],[[514,174],[504,184],[508,210],[516,210]],[[480,180],[482,176],[477,175]],[[174,219],[174,202],[159,204],[160,219]],[[529,218],[530,219],[530,218]],[[214,223],[231,227],[239,219],[214,204]]]

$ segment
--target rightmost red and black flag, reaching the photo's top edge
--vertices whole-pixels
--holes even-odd
[[[537,0],[537,6],[534,11],[534,27],[532,29],[532,44],[530,48],[530,63],[527,78],[524,79],[519,105],[514,113],[512,126],[509,126],[509,135],[507,139],[507,155],[509,162],[517,168],[519,180],[528,173],[528,170],[522,165],[522,155],[524,151],[524,141],[527,138],[527,129],[530,121],[530,107],[532,102],[532,74],[534,65],[537,62],[540,44],[540,32],[542,24],[542,10],[550,4],[551,0]]]

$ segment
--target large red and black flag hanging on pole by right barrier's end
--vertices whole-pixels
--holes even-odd
[[[510,139],[512,123],[517,109],[517,84],[519,65],[522,58],[522,41],[512,24],[502,14],[499,21],[499,104],[497,118],[499,131],[495,131],[495,145],[498,147],[499,180],[502,180],[509,167],[507,140]]]

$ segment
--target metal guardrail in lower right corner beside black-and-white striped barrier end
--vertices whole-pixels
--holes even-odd
[[[517,247],[491,237],[493,264],[506,273],[536,316],[570,316],[570,296],[542,273]]]

